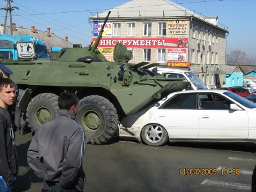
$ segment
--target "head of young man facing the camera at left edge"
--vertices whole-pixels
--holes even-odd
[[[0,106],[7,108],[15,100],[15,83],[8,78],[0,78]]]

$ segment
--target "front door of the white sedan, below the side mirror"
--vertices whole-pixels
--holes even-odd
[[[231,110],[230,104],[234,102],[217,93],[206,95],[209,99],[200,100],[198,109],[199,139],[247,139],[247,112]],[[199,94],[199,99],[202,97],[205,94]]]

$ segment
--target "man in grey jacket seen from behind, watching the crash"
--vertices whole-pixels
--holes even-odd
[[[63,92],[58,106],[56,119],[42,125],[33,137],[28,164],[44,180],[45,191],[83,191],[86,140],[83,128],[74,121],[79,98],[72,92]]]

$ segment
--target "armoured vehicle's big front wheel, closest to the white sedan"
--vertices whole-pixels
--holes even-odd
[[[118,115],[108,99],[91,95],[80,101],[76,122],[86,132],[87,143],[103,144],[115,135]]]

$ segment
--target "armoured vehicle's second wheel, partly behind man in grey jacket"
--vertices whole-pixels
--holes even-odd
[[[60,111],[58,107],[58,96],[52,93],[42,93],[36,95],[31,102],[28,104],[27,108],[27,118],[29,122],[29,127],[33,132],[38,131],[38,129],[54,118]]]

